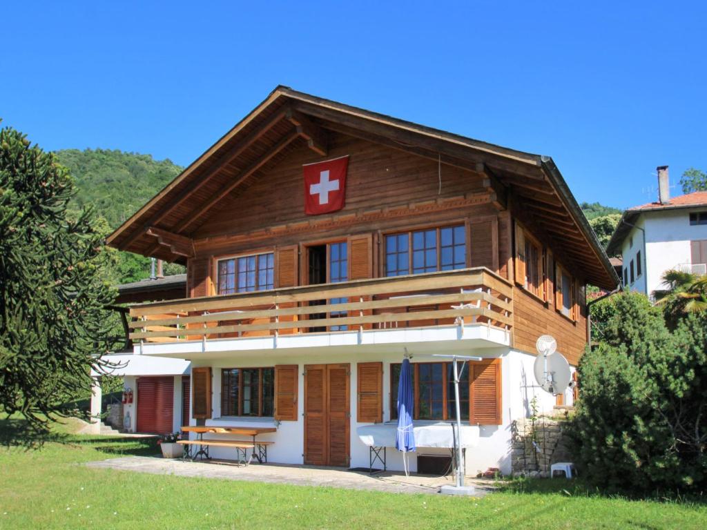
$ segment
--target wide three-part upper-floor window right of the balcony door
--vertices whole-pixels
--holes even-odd
[[[464,225],[385,236],[385,276],[464,269]]]

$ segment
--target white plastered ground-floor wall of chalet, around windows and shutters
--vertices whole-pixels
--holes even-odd
[[[382,348],[382,349],[385,349]],[[419,346],[416,348],[419,351]],[[383,363],[383,420],[390,420],[390,365],[402,361],[402,351],[390,351],[388,353],[319,353],[314,348],[307,353],[301,352],[297,355],[279,355],[273,352],[269,355],[245,355],[239,352],[233,358],[218,358],[211,361],[194,361],[192,366],[211,366],[212,377],[212,418],[206,420],[206,425],[214,426],[259,426],[276,427],[277,432],[269,435],[262,435],[260,439],[274,442],[268,448],[268,461],[282,464],[303,464],[304,463],[304,367],[310,364],[325,363],[349,363],[351,365],[351,378],[349,382],[351,426],[350,426],[350,457],[352,467],[368,467],[369,449],[356,435],[356,428],[359,425],[366,425],[356,421],[356,363],[366,363],[372,361],[382,361]],[[327,348],[321,348],[327,350]],[[320,351],[321,351],[320,350]],[[431,358],[431,353],[447,353],[443,349],[436,349],[426,353],[414,353],[412,362],[430,362],[436,360]],[[452,352],[449,352],[452,353]],[[455,352],[457,355],[459,351]],[[485,471],[489,467],[501,469],[501,473],[510,473],[511,464],[511,439],[513,420],[527,418],[531,413],[531,402],[537,397],[537,408],[539,413],[549,412],[553,409],[556,398],[551,394],[542,391],[534,382],[533,363],[535,355],[528,355],[520,351],[514,351],[506,347],[499,348],[474,348],[466,355],[477,355],[484,358],[502,359],[502,395],[503,395],[503,423],[501,425],[479,425],[479,443],[477,447],[469,448],[466,451],[466,472],[467,475],[475,475],[479,471]],[[238,367],[267,367],[274,365],[292,365],[299,367],[298,384],[298,420],[276,422],[273,418],[238,418],[221,417],[221,368]],[[136,388],[136,378],[126,377],[126,386]],[[181,421],[182,406],[182,384],[181,376],[175,377],[175,411],[174,425],[175,431],[179,430]],[[131,416],[131,428],[136,425],[136,404],[139,396],[136,396],[132,405],[127,405],[125,413]],[[565,404],[572,404],[572,392],[568,390],[565,395]],[[190,420],[191,425],[196,425],[196,420]],[[451,427],[450,427],[451,428]],[[194,437],[194,435],[192,435]],[[207,435],[208,437],[208,435]],[[212,448],[211,454],[216,458],[233,458],[228,449]],[[411,471],[416,471],[416,455],[419,454],[450,454],[448,449],[428,449],[419,448],[411,456]],[[387,468],[392,470],[402,470],[402,456],[395,447],[387,448]]]

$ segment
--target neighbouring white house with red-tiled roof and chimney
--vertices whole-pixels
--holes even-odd
[[[649,296],[670,269],[707,273],[707,192],[671,199],[667,166],[658,184],[658,201],[626,210],[607,248],[624,260],[624,287]]]

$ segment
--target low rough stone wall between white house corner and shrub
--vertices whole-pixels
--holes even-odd
[[[548,477],[550,465],[572,461],[563,428],[568,411],[515,420],[511,425],[513,476]]]

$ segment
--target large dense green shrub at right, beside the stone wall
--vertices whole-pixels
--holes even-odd
[[[593,485],[645,493],[707,487],[707,318],[670,332],[641,295],[618,295],[602,343],[580,362],[569,432]]]

